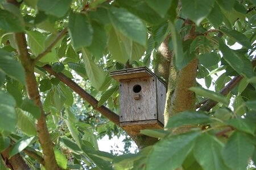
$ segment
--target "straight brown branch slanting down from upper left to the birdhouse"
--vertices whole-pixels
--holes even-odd
[[[87,93],[84,89],[82,89],[79,85],[76,84],[76,82],[72,81],[71,78],[68,78],[63,73],[56,73],[53,71],[50,65],[44,65],[43,67],[48,73],[52,74],[53,76],[57,77],[60,81],[64,82],[65,85],[69,86],[74,92],[79,94],[85,101],[90,103],[90,105],[93,106],[94,110],[97,110],[102,115],[104,115],[106,118],[108,118],[110,121],[115,123],[115,125],[119,125],[119,115],[115,114],[113,111],[109,110],[108,107],[100,106],[98,107],[98,101],[93,96],[90,96],[89,93]]]

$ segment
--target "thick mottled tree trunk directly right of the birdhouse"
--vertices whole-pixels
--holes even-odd
[[[192,28],[184,40],[195,39],[195,25],[191,20],[185,20],[185,25],[188,24],[191,24]],[[195,58],[186,67],[180,71],[176,71],[174,60],[171,61],[166,108],[164,110],[165,125],[168,119],[175,114],[181,111],[195,109],[195,93],[189,90],[189,88],[196,84],[197,63],[198,60]],[[178,128],[175,133],[188,131],[189,128],[189,126]]]

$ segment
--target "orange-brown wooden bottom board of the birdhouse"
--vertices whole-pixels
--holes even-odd
[[[142,135],[140,131],[146,128],[163,129],[163,124],[156,119],[147,121],[121,122],[120,126],[131,135]]]

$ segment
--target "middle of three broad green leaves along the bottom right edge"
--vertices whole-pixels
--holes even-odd
[[[215,136],[203,133],[196,139],[193,154],[204,169],[228,169],[221,157],[222,148],[223,144]]]

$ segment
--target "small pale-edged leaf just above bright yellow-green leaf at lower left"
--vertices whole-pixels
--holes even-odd
[[[77,146],[77,144],[73,142],[73,140],[64,136],[64,137],[61,137],[59,141],[60,141],[60,147],[65,148],[77,155],[82,154],[82,151],[80,150],[79,146]]]

